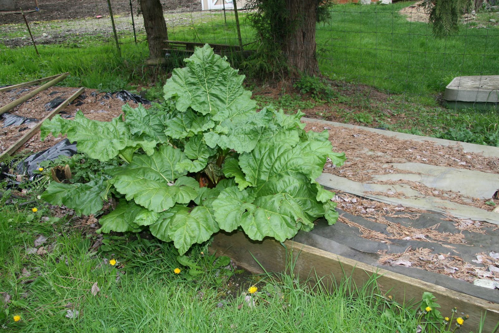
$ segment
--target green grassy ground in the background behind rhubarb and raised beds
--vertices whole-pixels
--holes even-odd
[[[312,117],[499,146],[497,111],[456,112],[440,107],[435,95],[456,75],[499,72],[499,62],[495,61],[499,43],[492,42],[499,25],[478,29],[477,21],[488,22],[491,15],[479,13],[477,21],[468,28],[463,26],[458,35],[436,38],[428,24],[409,22],[398,13],[411,3],[334,5],[331,19],[317,24],[316,36],[320,68],[332,78],[326,82],[329,88],[324,89],[317,78],[305,77],[293,82],[297,90],[289,88],[290,84],[268,94],[272,88],[254,87],[256,98],[288,112],[302,109]],[[222,13],[190,14],[182,24],[173,23],[178,15],[167,15],[170,39],[238,44],[232,12],[227,24]],[[252,31],[245,14],[240,16],[246,44],[253,40]],[[41,28],[68,24],[38,24],[33,30],[41,34],[45,31]],[[17,36],[23,33],[17,31],[21,29],[21,25],[9,25],[8,34]],[[32,46],[0,45],[0,84],[69,71],[71,75],[63,85],[105,91],[133,90],[156,81],[156,86],[147,87],[147,97],[161,99],[166,72],[144,65],[148,54],[145,36],[139,34],[137,45],[128,30],[121,31],[119,38],[123,59],[117,57],[113,41],[91,32],[68,36],[63,44],[38,45],[40,57]],[[311,96],[313,90],[317,93]]]

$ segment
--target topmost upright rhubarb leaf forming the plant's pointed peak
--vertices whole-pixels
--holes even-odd
[[[221,111],[239,114],[242,109],[255,109],[251,93],[243,88],[245,76],[239,75],[229,62],[213,53],[210,45],[196,47],[185,62],[187,67],[174,69],[164,87],[165,99],[173,98],[180,112],[189,107],[212,115]]]

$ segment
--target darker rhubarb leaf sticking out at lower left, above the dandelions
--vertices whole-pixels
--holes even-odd
[[[41,198],[52,205],[64,205],[74,209],[78,215],[90,215],[102,209],[102,198],[106,195],[107,178],[101,176],[86,184],[63,184],[51,182]]]

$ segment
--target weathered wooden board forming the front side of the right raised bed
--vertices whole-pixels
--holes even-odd
[[[481,315],[487,311],[484,332],[492,332],[499,322],[499,305],[473,296],[459,293],[438,285],[407,277],[361,263],[356,260],[337,256],[335,254],[316,249],[304,244],[285,241],[283,243],[288,252],[292,251],[296,258],[295,274],[301,278],[331,276],[341,280],[345,275],[351,277],[357,286],[369,281],[373,275],[379,276],[379,287],[389,292],[389,295],[400,303],[403,300],[421,300],[424,292],[430,292],[437,298],[444,314],[450,314],[451,309],[458,308],[458,313],[470,315],[466,321],[464,331],[478,331]],[[231,234],[218,233],[211,245],[211,250],[217,255],[231,257],[238,266],[246,270],[261,274],[263,270],[252,258],[251,254],[268,272],[282,272],[285,270],[286,249],[277,241],[266,239],[262,242],[251,241],[243,232]]]

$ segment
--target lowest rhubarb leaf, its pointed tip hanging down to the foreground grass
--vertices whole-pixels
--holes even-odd
[[[209,240],[220,230],[210,209],[205,206],[197,206],[189,212],[189,208],[177,205],[162,217],[161,221],[150,226],[151,233],[161,240],[173,240],[181,255],[191,245]]]

